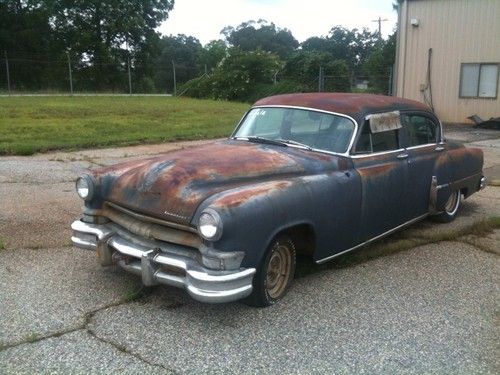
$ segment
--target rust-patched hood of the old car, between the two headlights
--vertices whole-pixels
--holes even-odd
[[[181,224],[226,189],[336,169],[333,155],[226,140],[94,171],[101,198]]]

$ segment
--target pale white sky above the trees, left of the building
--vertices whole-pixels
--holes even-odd
[[[225,26],[236,27],[249,20],[264,19],[289,29],[303,42],[311,36],[326,36],[333,26],[367,27],[382,36],[391,34],[397,21],[394,0],[175,0],[174,9],[158,29],[163,35],[194,36],[205,45],[222,39]]]

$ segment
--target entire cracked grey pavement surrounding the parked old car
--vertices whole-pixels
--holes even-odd
[[[500,133],[446,134],[481,147],[485,173],[499,177]],[[0,158],[0,373],[500,371],[500,231],[466,235],[500,216],[500,187],[467,199],[451,224],[391,237],[402,251],[384,242],[322,267],[299,262],[287,297],[266,309],[145,289],[70,246],[81,171],[199,143]],[[453,238],[433,243],[442,233]]]

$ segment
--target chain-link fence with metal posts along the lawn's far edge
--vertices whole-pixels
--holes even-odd
[[[193,78],[209,77],[205,67],[190,66],[182,61],[141,64],[124,58],[119,62],[85,62],[63,55],[57,60],[43,56],[8,55],[0,62],[0,94],[170,94],[190,95],[182,84]],[[278,77],[278,79],[276,79]],[[270,77],[279,83],[280,75]],[[327,75],[322,68],[310,91],[351,91],[392,93],[392,75],[375,77],[378,86],[363,75]]]

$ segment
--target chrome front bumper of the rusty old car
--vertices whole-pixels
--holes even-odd
[[[73,244],[82,249],[96,250],[101,264],[118,264],[142,277],[146,286],[166,284],[184,288],[201,302],[229,302],[248,296],[252,292],[255,268],[216,271],[203,267],[186,250],[179,254],[162,247],[152,248],[131,241],[108,224],[89,224],[77,220],[71,224]]]

